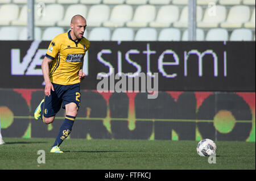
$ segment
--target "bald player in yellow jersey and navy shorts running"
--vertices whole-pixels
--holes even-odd
[[[80,81],[84,79],[82,65],[86,50],[90,46],[85,39],[86,20],[81,15],[71,19],[71,30],[57,35],[49,44],[42,62],[44,99],[36,108],[34,117],[50,124],[56,113],[65,109],[65,119],[52,146],[51,153],[63,153],[60,144],[71,133],[80,107]]]

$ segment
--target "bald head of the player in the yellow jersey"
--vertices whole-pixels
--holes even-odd
[[[71,19],[71,37],[73,40],[82,39],[86,28],[86,20],[81,15],[75,15]]]

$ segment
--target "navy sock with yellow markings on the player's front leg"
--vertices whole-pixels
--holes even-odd
[[[63,142],[63,140],[65,140],[65,138],[68,137],[68,135],[71,133],[75,119],[76,119],[76,117],[66,115],[65,120],[61,124],[60,132],[59,132],[58,136],[56,137],[56,140],[55,140],[53,146],[60,146],[60,144]]]

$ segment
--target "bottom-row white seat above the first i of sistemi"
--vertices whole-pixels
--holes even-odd
[[[116,28],[112,33],[112,41],[133,41],[134,31],[133,28]]]

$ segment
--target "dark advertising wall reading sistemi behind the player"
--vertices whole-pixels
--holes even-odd
[[[3,137],[55,138],[59,132],[64,110],[50,125],[33,116],[44,96],[40,64],[48,44],[0,41]],[[84,60],[70,138],[255,141],[255,42],[94,41]],[[97,91],[97,74],[110,68],[133,79],[158,73],[158,96],[148,99],[141,87],[129,86]]]

